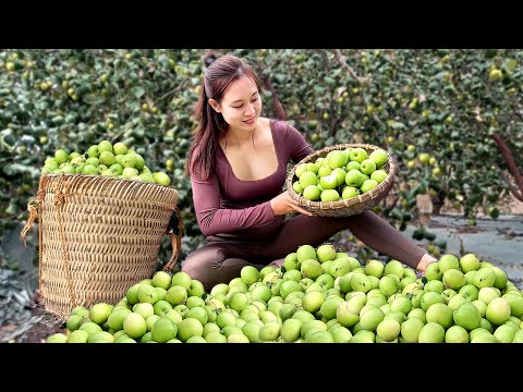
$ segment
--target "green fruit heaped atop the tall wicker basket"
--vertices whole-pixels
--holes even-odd
[[[47,173],[99,174],[163,186],[171,183],[167,173],[151,172],[144,158],[129,149],[125,144],[119,142],[113,145],[109,140],[92,145],[83,155],[57,149],[54,156],[47,158],[44,163],[41,174]]]

